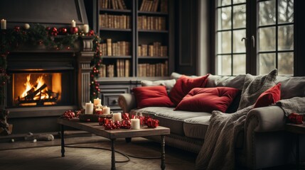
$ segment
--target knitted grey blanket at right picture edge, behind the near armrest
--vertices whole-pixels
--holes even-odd
[[[305,113],[305,97],[284,99],[277,101],[275,104],[284,110],[286,116],[290,113]]]

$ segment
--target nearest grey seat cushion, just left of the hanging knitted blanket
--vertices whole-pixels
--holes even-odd
[[[210,116],[210,113],[205,113],[203,116],[184,120],[183,130],[186,136],[203,140],[210,125]]]

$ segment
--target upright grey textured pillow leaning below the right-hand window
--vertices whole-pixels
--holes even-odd
[[[277,69],[272,70],[269,74],[252,76],[247,74],[245,77],[245,83],[242,88],[242,96],[240,98],[240,106],[238,111],[242,108],[247,108],[257,101],[260,94],[267,91],[267,89],[275,86],[277,79]]]

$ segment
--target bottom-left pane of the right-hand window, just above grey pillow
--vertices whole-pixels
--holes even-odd
[[[275,53],[259,55],[259,74],[268,74],[272,69],[276,68]]]

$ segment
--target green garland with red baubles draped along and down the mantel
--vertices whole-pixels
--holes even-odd
[[[75,40],[77,40],[79,35],[85,35],[78,31],[77,29],[71,29],[73,33],[68,33],[67,28],[60,28],[58,31],[57,28],[49,28],[43,26],[41,24],[33,24],[30,28],[25,29],[22,27],[16,26],[14,29],[0,30],[0,106],[4,108],[4,99],[5,99],[5,84],[9,81],[9,75],[6,74],[6,57],[9,55],[11,50],[18,48],[20,45],[31,45],[38,46],[44,45],[49,50],[60,50],[63,48],[70,49],[74,47]],[[63,35],[63,36],[58,36]],[[94,35],[94,31],[90,30],[86,35]],[[95,56],[92,59],[93,68],[98,69],[100,65],[100,61],[102,60],[100,57],[98,43],[100,38],[95,36],[94,47]],[[97,60],[97,57],[100,60]],[[94,69],[92,69],[92,72]],[[92,73],[94,75],[91,81],[96,82],[95,79],[97,74]],[[94,98],[99,93],[99,89],[97,90],[98,85],[95,86],[95,89],[90,91],[90,98]],[[92,86],[93,88],[93,86]]]

